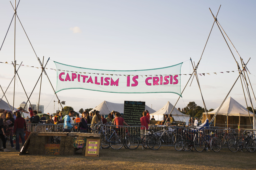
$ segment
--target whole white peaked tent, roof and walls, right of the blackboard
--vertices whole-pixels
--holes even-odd
[[[155,120],[158,120],[158,121],[164,120],[164,115],[170,114],[173,107],[174,106],[168,101],[162,109],[154,113],[151,113],[150,117],[154,116]],[[175,121],[186,122],[186,124],[188,125],[189,115],[183,114],[182,112],[178,111],[178,109],[174,108],[172,111],[172,116]]]

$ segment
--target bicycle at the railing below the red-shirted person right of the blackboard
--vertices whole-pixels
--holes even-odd
[[[145,137],[138,137],[138,136],[130,136],[129,138],[127,138],[127,140],[125,141],[125,145],[128,149],[137,149],[138,146],[140,144],[142,144],[142,149],[144,148],[150,148],[152,150],[157,150],[161,147],[161,140],[154,135],[153,133],[151,134],[152,130],[148,130],[146,129],[146,131],[148,131],[148,133],[146,135],[143,135]]]

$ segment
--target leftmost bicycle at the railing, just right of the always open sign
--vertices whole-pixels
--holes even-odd
[[[121,149],[124,145],[124,140],[121,136],[116,134],[116,130],[118,130],[117,128],[110,129],[110,128],[106,128],[106,127],[102,127],[102,123],[98,123],[97,124],[98,128],[94,129],[92,131],[92,133],[95,134],[101,134],[101,147],[102,148],[109,148],[111,147],[112,149]],[[111,135],[109,135],[109,133],[105,133],[104,129],[108,129],[110,130],[110,132],[112,132]]]

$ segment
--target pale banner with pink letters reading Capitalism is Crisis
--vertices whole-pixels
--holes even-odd
[[[56,93],[80,88],[109,93],[176,93],[181,96],[182,63],[157,69],[126,71],[88,69],[58,62],[55,64]]]

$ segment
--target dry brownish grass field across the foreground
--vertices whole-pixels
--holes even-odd
[[[255,169],[256,152],[185,152],[174,147],[159,150],[102,149],[99,157],[85,157],[81,150],[74,156],[18,155],[15,149],[0,152],[0,169]]]

